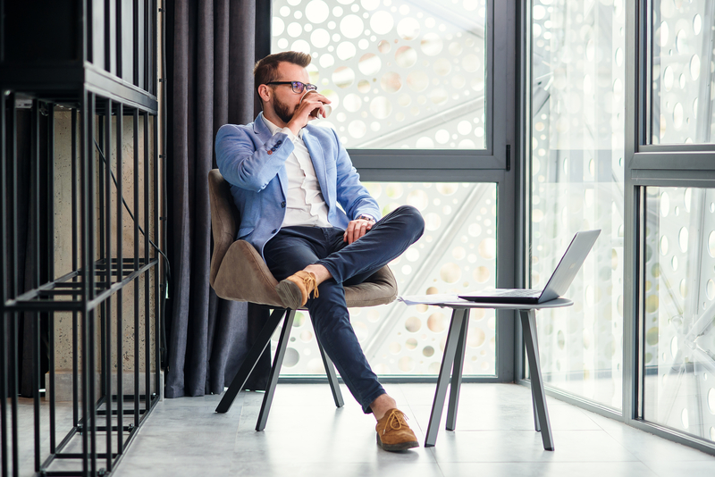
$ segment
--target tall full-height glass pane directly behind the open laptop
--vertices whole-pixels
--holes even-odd
[[[536,314],[544,381],[621,407],[624,2],[534,0],[531,287],[574,233],[601,229],[568,289]]]

